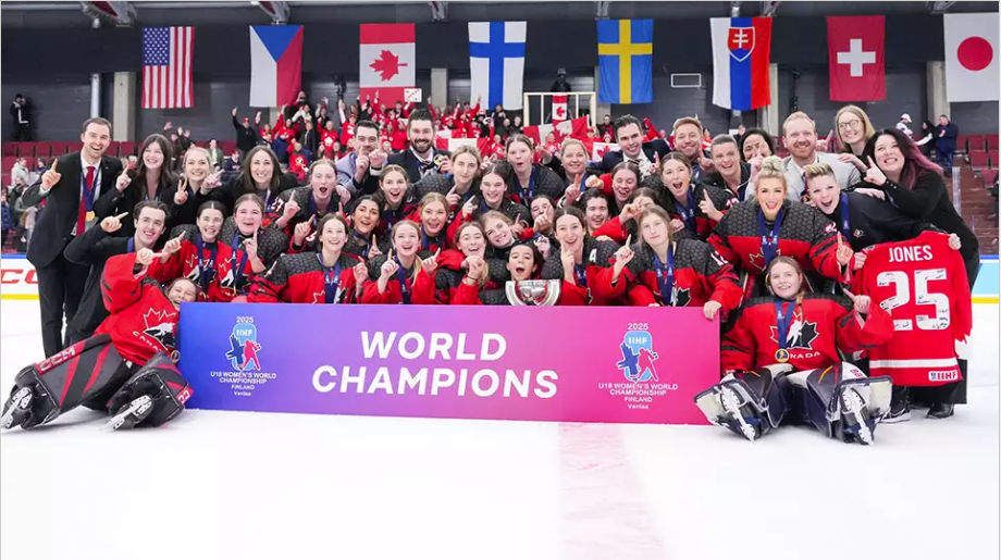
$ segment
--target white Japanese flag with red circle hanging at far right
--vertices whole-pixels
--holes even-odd
[[[998,100],[998,14],[944,14],[946,97]]]

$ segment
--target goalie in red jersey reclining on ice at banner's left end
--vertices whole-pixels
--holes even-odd
[[[193,390],[172,358],[181,303],[195,301],[197,288],[186,278],[165,288],[148,278],[159,257],[140,249],[108,260],[101,295],[110,316],[92,337],[17,374],[0,427],[48,424],[78,405],[108,410],[114,430],[158,426],[184,410]]]

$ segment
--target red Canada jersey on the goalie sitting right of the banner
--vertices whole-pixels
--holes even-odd
[[[775,297],[754,298],[740,311],[737,324],[724,337],[720,365],[730,370],[754,371],[777,363]],[[793,303],[787,302],[787,309]],[[856,352],[875,348],[893,336],[890,315],[874,304],[865,327],[858,326],[851,301],[843,296],[806,294],[795,308],[787,334],[789,363],[796,371],[827,368],[841,361],[838,350]],[[875,374],[875,372],[874,372]]]

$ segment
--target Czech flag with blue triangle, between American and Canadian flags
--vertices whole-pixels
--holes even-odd
[[[302,87],[302,26],[250,27],[250,107],[292,104]]]

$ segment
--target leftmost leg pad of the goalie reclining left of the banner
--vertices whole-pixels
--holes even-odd
[[[28,430],[52,422],[114,385],[123,363],[111,337],[98,335],[28,365],[14,379],[0,425]]]

